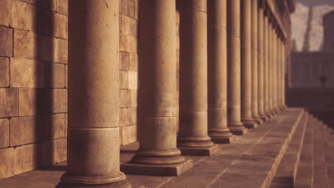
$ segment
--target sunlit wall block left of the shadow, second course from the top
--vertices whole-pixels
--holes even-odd
[[[14,57],[34,59],[37,56],[36,34],[14,29]]]

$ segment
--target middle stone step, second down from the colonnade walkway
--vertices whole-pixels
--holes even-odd
[[[315,119],[310,117],[308,129],[305,132],[300,162],[295,177],[295,188],[313,187],[313,126]]]

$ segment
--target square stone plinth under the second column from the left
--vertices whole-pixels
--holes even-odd
[[[126,174],[143,174],[152,176],[179,176],[193,167],[193,160],[185,160],[178,164],[137,164],[126,162],[121,171]]]

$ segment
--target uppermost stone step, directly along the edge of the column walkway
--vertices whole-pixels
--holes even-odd
[[[298,125],[295,130],[295,134],[292,137],[288,149],[280,162],[278,171],[273,178],[273,182],[270,184],[270,188],[293,187],[307,125],[308,113],[304,113],[300,125]]]

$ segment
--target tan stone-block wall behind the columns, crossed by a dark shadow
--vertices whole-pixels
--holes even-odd
[[[68,0],[0,1],[0,179],[66,161]],[[121,145],[137,140],[138,1],[120,1]]]

